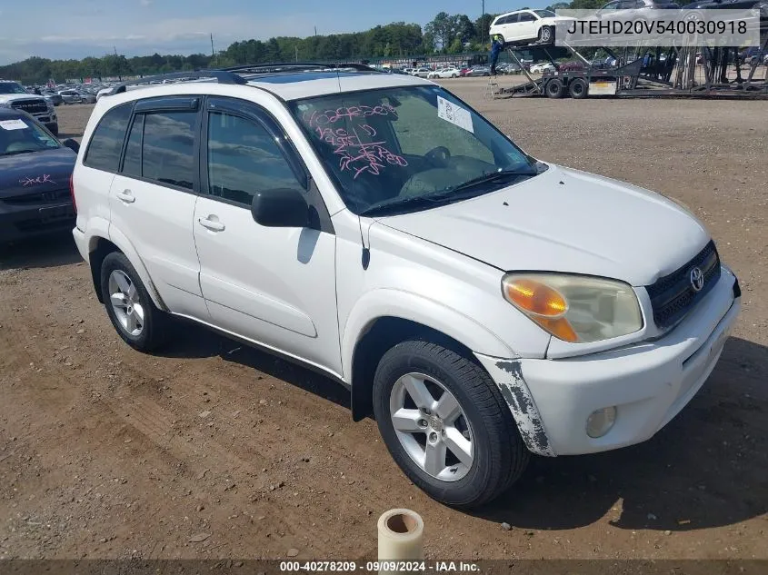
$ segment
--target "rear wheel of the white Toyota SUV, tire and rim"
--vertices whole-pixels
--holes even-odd
[[[139,274],[123,253],[108,254],[101,269],[102,298],[115,331],[139,352],[165,343],[167,316],[155,307]]]

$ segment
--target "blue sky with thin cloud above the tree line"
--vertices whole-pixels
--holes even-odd
[[[486,13],[523,0],[486,0]],[[441,10],[482,13],[482,0],[0,0],[0,65],[51,59],[210,53],[237,40],[358,32],[404,21],[424,25]]]

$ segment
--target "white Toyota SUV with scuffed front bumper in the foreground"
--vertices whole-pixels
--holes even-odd
[[[663,196],[525,154],[432,82],[217,73],[103,97],[75,241],[129,345],[174,317],[302,362],[445,503],[529,453],[645,441],[712,372],[738,283]]]

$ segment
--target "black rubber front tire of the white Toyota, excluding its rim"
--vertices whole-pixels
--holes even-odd
[[[454,366],[441,364],[429,353],[420,352],[418,348],[414,350],[413,346],[404,349],[403,346],[409,343],[413,342],[398,344],[385,353],[374,378],[374,412],[384,444],[405,475],[434,499],[457,507],[473,507],[475,501],[484,499],[484,492],[492,488],[492,461],[503,456],[492,452],[497,441],[492,441],[490,437],[492,431],[488,428],[486,417],[478,410],[471,392],[461,384]],[[441,382],[454,394],[464,411],[472,430],[474,461],[470,471],[459,481],[437,480],[420,469],[397,438],[390,417],[390,394],[394,382],[409,372],[424,373]],[[508,410],[506,406],[504,409]],[[514,425],[511,412],[506,411],[504,414],[502,411],[502,413],[503,416],[509,417]],[[514,437],[504,438],[504,441],[514,441]],[[520,441],[519,438],[518,441]]]

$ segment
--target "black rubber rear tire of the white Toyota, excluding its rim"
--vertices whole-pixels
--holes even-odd
[[[136,291],[139,292],[139,298],[144,308],[144,329],[137,335],[131,335],[125,332],[123,326],[115,315],[115,310],[110,302],[109,293],[109,276],[115,270],[120,270],[127,275],[131,282],[134,283]],[[149,296],[149,292],[146,291],[144,282],[131,262],[123,253],[113,252],[108,254],[101,268],[101,290],[102,298],[105,303],[106,313],[109,316],[113,326],[115,326],[115,332],[120,335],[124,342],[131,347],[142,352],[152,351],[157,347],[159,338],[157,337],[157,324],[159,323],[159,315],[161,312],[155,308],[155,304],[152,302],[152,298]]]

